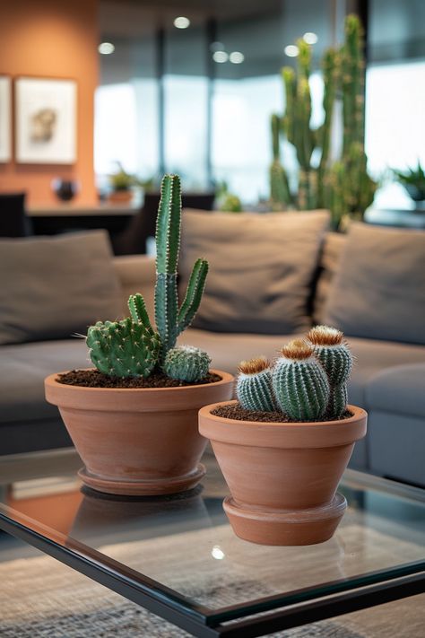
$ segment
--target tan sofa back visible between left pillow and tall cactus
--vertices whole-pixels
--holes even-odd
[[[128,317],[127,301],[130,294],[141,293],[153,322],[155,258],[147,255],[125,255],[114,257],[113,261],[122,288],[123,317]]]

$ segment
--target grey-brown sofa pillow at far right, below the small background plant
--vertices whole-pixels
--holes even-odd
[[[325,322],[350,336],[425,344],[425,232],[353,223]]]

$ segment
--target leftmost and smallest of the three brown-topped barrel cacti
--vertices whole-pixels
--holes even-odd
[[[276,409],[272,389],[272,372],[265,357],[239,363],[236,392],[246,410],[273,412]]]

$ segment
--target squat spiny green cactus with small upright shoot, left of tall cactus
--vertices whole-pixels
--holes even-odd
[[[116,377],[148,377],[160,352],[160,336],[153,331],[142,295],[129,300],[132,319],[98,321],[87,333],[91,361],[100,372]]]

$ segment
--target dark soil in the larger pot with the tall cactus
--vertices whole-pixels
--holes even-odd
[[[143,377],[109,377],[99,370],[72,370],[57,375],[56,381],[69,386],[82,386],[83,388],[178,388],[181,386],[201,386],[205,383],[221,381],[219,374],[209,372],[204,379],[199,381],[180,381],[169,379],[162,372],[155,372],[147,379]]]

